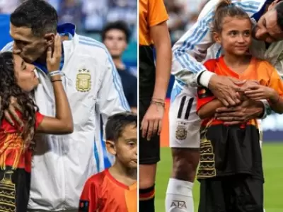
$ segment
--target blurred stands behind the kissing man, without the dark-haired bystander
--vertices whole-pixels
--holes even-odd
[[[0,0],[0,14],[10,14],[23,0]],[[137,1],[133,0],[46,0],[59,14],[59,23],[71,22],[80,34],[101,40],[106,23],[124,20],[131,31],[123,60],[137,73]],[[1,25],[3,21],[0,20]]]

